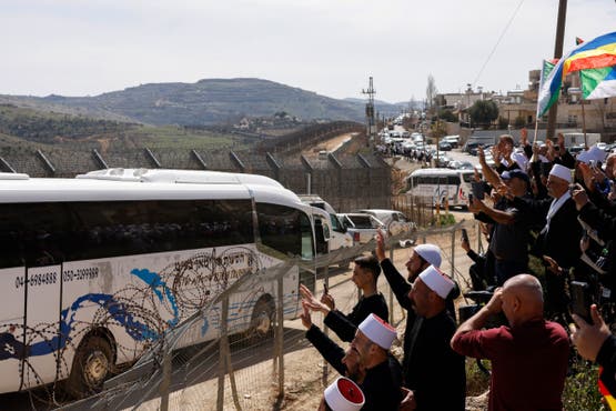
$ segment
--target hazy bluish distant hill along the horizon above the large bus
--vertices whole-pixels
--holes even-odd
[[[235,122],[243,116],[273,116],[277,111],[285,111],[303,120],[363,122],[365,104],[365,102],[336,100],[261,79],[206,79],[196,83],[150,83],[95,97],[0,96],[0,102],[28,106],[44,111],[81,113],[156,126],[226,123]]]

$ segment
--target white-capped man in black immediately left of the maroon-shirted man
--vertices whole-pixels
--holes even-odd
[[[434,265],[417,277],[408,292],[417,318],[410,335],[404,387],[411,390],[401,410],[464,410],[466,373],[464,357],[450,341],[456,323],[446,310],[446,298],[454,282]]]

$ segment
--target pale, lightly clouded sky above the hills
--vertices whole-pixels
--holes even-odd
[[[506,92],[554,54],[558,0],[0,0],[0,94],[97,96],[260,78],[332,98]],[[616,30],[616,1],[568,0],[564,51]]]

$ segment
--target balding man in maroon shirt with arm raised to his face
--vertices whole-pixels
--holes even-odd
[[[503,312],[508,327],[484,330]],[[543,290],[529,274],[508,279],[465,321],[452,348],[492,362],[488,410],[562,410],[569,341],[563,327],[544,320]]]

